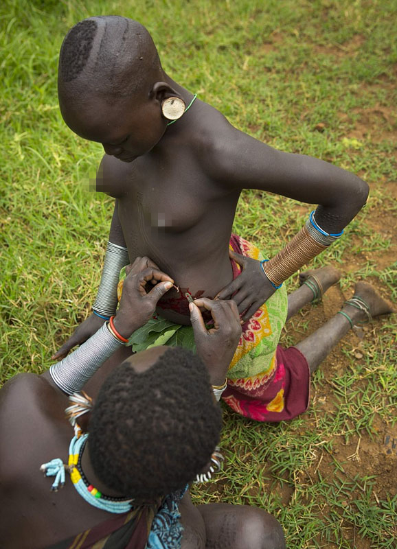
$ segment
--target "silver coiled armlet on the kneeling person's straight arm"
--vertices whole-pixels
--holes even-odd
[[[123,246],[108,242],[104,268],[93,310],[103,316],[113,316],[117,308],[117,283],[120,270],[128,265],[128,250]]]

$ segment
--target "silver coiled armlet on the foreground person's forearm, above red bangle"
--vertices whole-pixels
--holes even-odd
[[[49,373],[64,393],[78,393],[100,366],[122,345],[123,343],[111,334],[107,323],[104,323],[76,351],[53,364]]]

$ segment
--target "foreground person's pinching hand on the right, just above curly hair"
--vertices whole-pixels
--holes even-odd
[[[211,312],[211,329],[205,327],[199,307]],[[190,303],[189,309],[197,354],[207,366],[212,384],[222,385],[241,336],[237,305],[234,301],[203,297]]]

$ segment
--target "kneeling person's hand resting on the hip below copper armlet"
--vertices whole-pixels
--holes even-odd
[[[260,261],[245,257],[245,255],[240,255],[232,250],[229,250],[229,255],[240,265],[242,270],[234,281],[218,292],[215,299],[236,301],[241,322],[245,323],[254,312],[258,311],[266,299],[274,294],[275,288],[264,274]],[[233,295],[234,292],[236,295]]]

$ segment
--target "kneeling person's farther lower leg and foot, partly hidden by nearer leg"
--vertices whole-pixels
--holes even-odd
[[[288,295],[288,313],[287,320],[294,316],[299,309],[302,309],[304,305],[310,303],[315,299],[313,290],[310,290],[308,286],[304,284],[305,281],[310,281],[310,277],[315,276],[315,278],[321,283],[322,289],[324,292],[330,288],[333,284],[336,284],[337,281],[341,278],[341,273],[339,270],[335,269],[332,266],[323,267],[321,269],[306,270],[299,274],[299,283],[301,287]],[[315,285],[317,282],[311,279]]]

